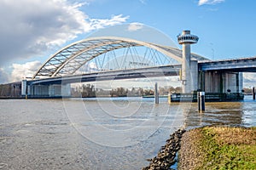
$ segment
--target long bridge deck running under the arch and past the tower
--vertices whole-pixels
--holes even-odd
[[[124,71],[102,71],[65,77],[49,77],[38,80],[36,79],[28,81],[28,84],[61,84],[145,77],[168,77],[178,76],[180,69],[181,65],[165,65],[140,69],[129,69]],[[244,59],[225,59],[218,61],[199,61],[198,69],[199,71],[256,72],[256,57]]]

